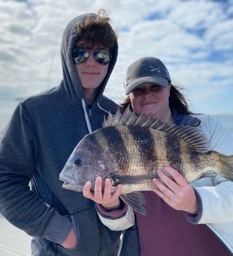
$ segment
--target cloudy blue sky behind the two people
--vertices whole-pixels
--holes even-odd
[[[2,124],[19,98],[59,84],[65,25],[100,8],[119,39],[107,96],[120,102],[127,67],[142,56],[156,56],[173,84],[184,87],[192,111],[233,114],[232,0],[5,0],[0,2]]]

